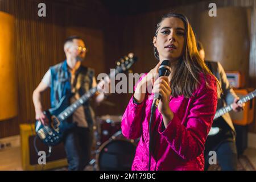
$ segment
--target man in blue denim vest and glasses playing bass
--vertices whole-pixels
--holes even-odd
[[[84,41],[79,36],[67,38],[64,52],[66,60],[50,67],[33,93],[36,119],[43,125],[49,125],[41,102],[42,93],[48,88],[51,89],[51,107],[56,107],[64,96],[72,95],[69,100],[69,104],[72,104],[89,89],[97,86],[94,70],[81,65],[86,55]],[[109,80],[107,82],[110,83]],[[104,85],[98,84],[100,89],[104,89]],[[96,104],[103,101],[104,97],[103,92],[97,92],[94,95]],[[76,123],[76,127],[68,131],[63,140],[68,169],[82,170],[90,160],[93,141],[94,112],[89,102],[80,106],[69,119],[70,122]]]

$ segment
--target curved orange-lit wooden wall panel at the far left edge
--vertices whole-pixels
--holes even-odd
[[[0,122],[18,115],[14,31],[14,16],[0,11]]]

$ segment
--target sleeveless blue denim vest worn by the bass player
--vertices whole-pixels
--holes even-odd
[[[51,71],[51,107],[56,107],[61,98],[64,96],[71,96],[71,73],[68,71],[67,60],[62,63],[50,67]],[[83,67],[82,65],[76,71],[76,84],[79,84],[77,92],[81,97],[92,88],[94,70],[91,68]],[[70,103],[65,104],[68,107]],[[89,102],[85,102],[84,111],[86,121],[89,128],[93,127],[94,112],[90,107]]]

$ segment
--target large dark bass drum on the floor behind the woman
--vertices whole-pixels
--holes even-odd
[[[133,164],[137,142],[126,139],[118,131],[100,146],[96,155],[97,170],[129,171]]]

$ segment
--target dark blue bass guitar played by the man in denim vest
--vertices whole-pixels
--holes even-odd
[[[122,73],[130,69],[130,67],[137,61],[137,57],[133,53],[122,57],[117,61],[117,66],[114,72],[109,73],[109,78],[115,77],[118,73]],[[89,100],[97,92],[97,86],[90,89],[79,100],[67,107],[71,96],[65,96],[61,98],[59,104],[51,109],[44,111],[46,117],[49,120],[48,125],[43,125],[40,121],[35,122],[36,135],[47,146],[55,146],[59,144],[63,139],[64,133],[75,127],[75,123],[68,122],[67,119],[85,102]]]

